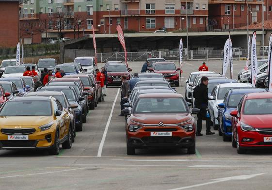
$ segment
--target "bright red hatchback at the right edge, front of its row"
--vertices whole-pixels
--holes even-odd
[[[238,154],[247,149],[272,148],[272,93],[246,94],[232,118],[232,146]]]

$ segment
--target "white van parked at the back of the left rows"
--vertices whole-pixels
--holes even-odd
[[[95,63],[95,57],[93,56],[76,57],[74,63],[80,63],[85,73],[96,75],[95,71],[97,69],[97,66]]]

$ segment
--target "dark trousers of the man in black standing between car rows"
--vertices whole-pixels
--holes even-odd
[[[206,132],[210,132],[210,117],[206,117],[207,105],[196,105],[195,107],[200,109],[200,112],[197,114],[196,133],[201,133],[202,120],[206,120]]]

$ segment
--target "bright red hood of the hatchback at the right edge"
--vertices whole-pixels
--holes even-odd
[[[271,115],[243,115],[242,122],[256,128],[271,128]]]

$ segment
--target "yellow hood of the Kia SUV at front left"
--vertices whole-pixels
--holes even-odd
[[[0,116],[0,127],[38,127],[50,123],[52,118],[52,116]]]

